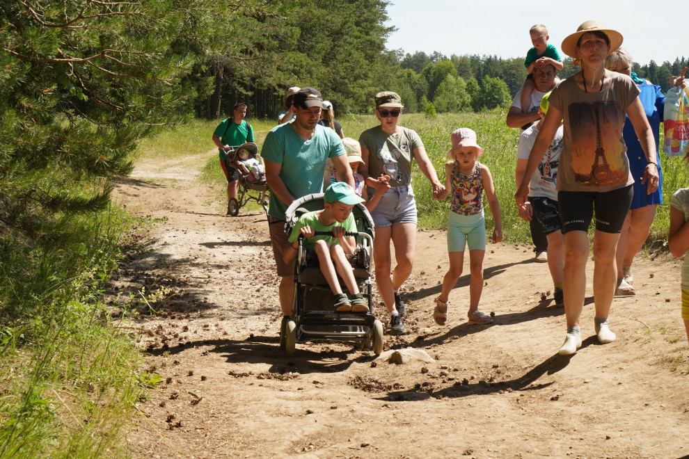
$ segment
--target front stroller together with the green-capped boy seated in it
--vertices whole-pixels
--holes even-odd
[[[372,313],[373,222],[361,202],[351,186],[338,182],[325,194],[296,200],[285,213],[292,242],[285,261],[297,259],[292,316],[280,326],[280,347],[287,353],[294,352],[296,342],[313,339],[358,341],[377,355],[383,350],[383,325]],[[316,256],[306,249],[316,246]]]

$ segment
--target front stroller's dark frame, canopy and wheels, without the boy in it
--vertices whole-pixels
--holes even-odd
[[[296,200],[285,212],[285,231],[292,232],[296,220],[306,212],[323,209],[323,193],[306,195]],[[280,329],[280,348],[287,354],[294,353],[295,344],[304,341],[350,341],[371,348],[376,355],[383,351],[383,324],[373,314],[371,300],[370,253],[373,246],[373,220],[363,204],[356,204],[354,220],[358,232],[355,236],[356,252],[351,258],[359,291],[368,299],[368,312],[337,312],[333,292],[318,266],[309,266],[307,250],[299,236],[299,252],[294,261],[294,306],[289,321],[283,321]],[[323,234],[317,232],[316,234]],[[342,280],[342,291],[347,291]]]

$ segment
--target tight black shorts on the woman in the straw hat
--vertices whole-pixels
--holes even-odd
[[[604,233],[619,233],[629,211],[633,193],[631,185],[603,193],[599,191],[558,192],[557,204],[560,207],[562,232],[588,231],[595,210],[596,230]]]

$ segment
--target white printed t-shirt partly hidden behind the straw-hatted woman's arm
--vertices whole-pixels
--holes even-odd
[[[540,123],[532,124],[521,133],[517,147],[517,159],[529,159],[531,149],[540,132],[540,126]],[[531,182],[529,183],[530,196],[551,198],[557,201],[557,189],[555,186],[557,184],[557,166],[560,166],[560,153],[562,153],[562,126],[557,128],[555,137],[553,137],[553,143],[546,150],[546,154],[541,158],[536,172],[531,177]]]

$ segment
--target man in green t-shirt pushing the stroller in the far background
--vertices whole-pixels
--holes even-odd
[[[228,215],[230,214],[230,200],[237,198],[237,179],[239,177],[237,176],[237,168],[230,166],[225,150],[229,147],[238,147],[243,143],[254,141],[251,124],[244,120],[246,105],[241,103],[235,104],[232,114],[234,118],[221,121],[213,132],[213,143],[220,151],[220,167],[228,179]]]

